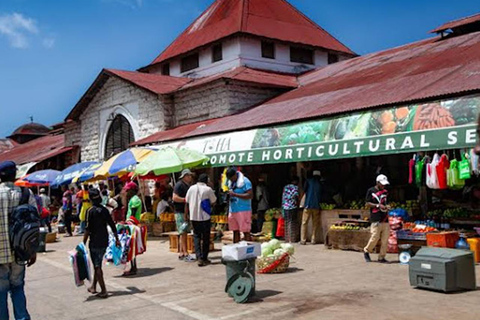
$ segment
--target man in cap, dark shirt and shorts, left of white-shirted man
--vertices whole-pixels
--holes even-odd
[[[179,239],[179,255],[178,259],[187,262],[195,261],[187,251],[187,232],[188,227],[185,228],[185,222],[187,217],[185,215],[185,197],[187,196],[188,189],[193,182],[193,173],[189,169],[182,171],[180,180],[175,184],[173,189],[173,203],[175,207],[175,222],[177,225],[177,231],[180,234]]]

